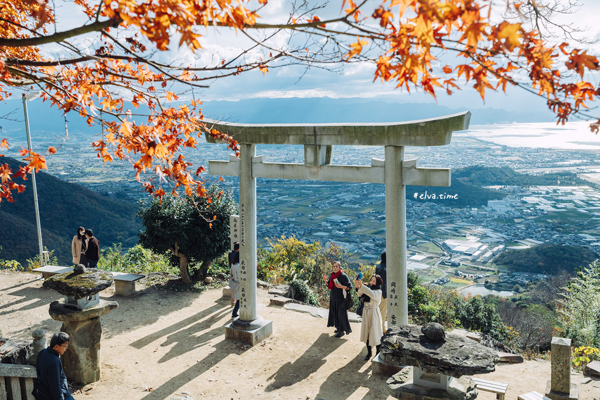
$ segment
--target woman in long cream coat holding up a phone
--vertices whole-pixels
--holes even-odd
[[[371,346],[377,349],[376,355],[381,348],[381,337],[383,336],[381,312],[381,286],[383,279],[379,275],[371,276],[368,285],[362,284],[360,279],[354,281],[358,295],[364,299],[365,307],[362,310],[361,342],[367,343],[367,356],[365,361],[371,358]]]

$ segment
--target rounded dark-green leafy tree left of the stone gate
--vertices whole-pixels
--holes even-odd
[[[204,278],[212,261],[229,248],[229,216],[237,211],[232,193],[217,185],[208,188],[206,197],[154,199],[137,212],[145,228],[139,243],[154,252],[172,252],[181,279],[189,284]],[[197,269],[190,272],[193,263]]]

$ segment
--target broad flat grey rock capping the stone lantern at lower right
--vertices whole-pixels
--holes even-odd
[[[383,335],[383,361],[395,365],[418,366],[429,374],[454,378],[487,374],[496,369],[496,351],[471,339],[447,335],[445,341],[433,341],[421,333],[421,326],[391,327]]]

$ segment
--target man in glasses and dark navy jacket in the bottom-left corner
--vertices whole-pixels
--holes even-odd
[[[50,339],[48,348],[44,348],[38,353],[35,368],[37,369],[38,383],[40,392],[49,393],[47,398],[52,400],[74,400],[71,396],[67,384],[65,371],[62,369],[62,353],[69,347],[69,335],[65,332],[58,332]]]

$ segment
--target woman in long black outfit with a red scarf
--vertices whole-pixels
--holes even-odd
[[[335,282],[337,279],[337,283]],[[332,272],[329,278],[323,276],[329,290],[329,318],[327,326],[335,326],[334,333],[336,338],[344,336],[344,332],[350,333],[350,321],[348,320],[348,310],[346,309],[346,296],[350,296],[350,280],[341,269],[340,261],[332,264]]]

